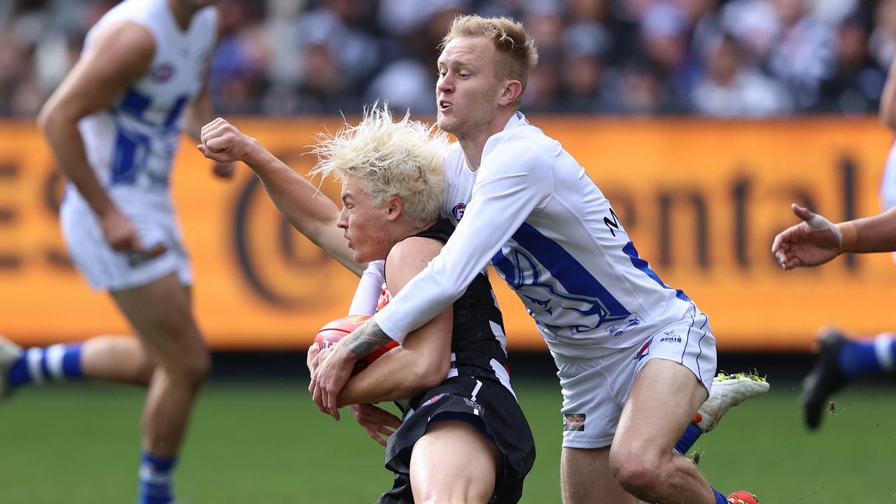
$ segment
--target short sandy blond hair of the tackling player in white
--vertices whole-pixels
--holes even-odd
[[[441,48],[461,37],[485,37],[491,40],[498,54],[503,56],[498,62],[499,76],[520,81],[522,89],[526,89],[529,71],[538,65],[538,49],[535,47],[535,40],[521,22],[508,17],[484,18],[476,14],[461,14],[452,21],[451,28],[442,39]],[[519,109],[521,103],[522,93],[513,100],[513,108]]]

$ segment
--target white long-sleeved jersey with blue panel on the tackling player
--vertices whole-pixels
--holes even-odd
[[[521,113],[488,139],[477,171],[453,145],[445,179],[443,213],[457,230],[375,316],[393,339],[442,311],[489,263],[558,359],[598,358],[683,321],[709,332],[685,293],[638,255],[582,166]]]

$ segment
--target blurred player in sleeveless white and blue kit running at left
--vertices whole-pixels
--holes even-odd
[[[58,378],[148,382],[138,503],[173,500],[172,474],[210,366],[194,320],[192,273],[168,191],[185,130],[211,119],[205,90],[218,38],[213,2],[126,0],[87,34],[39,126],[70,180],[60,220],[73,262],[108,291],[135,339],[18,352],[0,345],[0,392]],[[232,166],[216,167],[221,177]]]

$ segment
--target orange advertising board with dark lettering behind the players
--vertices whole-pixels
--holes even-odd
[[[720,122],[535,117],[582,163],[664,282],[710,316],[720,350],[802,350],[823,324],[896,327],[890,255],[840,257],[785,274],[769,249],[791,202],[832,220],[879,211],[892,137],[872,118]],[[237,118],[289,166],[314,163],[314,133],[338,119]],[[0,333],[25,344],[130,330],[108,295],[73,269],[58,229],[63,181],[30,121],[0,123]],[[214,348],[305,348],[345,314],[357,278],[292,230],[257,178],[211,176],[184,141],[172,178],[193,257],[195,311]],[[337,199],[339,187],[323,193]],[[544,348],[498,277],[515,349]]]

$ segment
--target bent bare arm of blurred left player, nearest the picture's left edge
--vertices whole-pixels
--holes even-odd
[[[134,22],[110,24],[99,31],[38,116],[56,163],[90,204],[108,244],[118,251],[142,249],[142,243],[134,223],[118,210],[90,168],[78,121],[106,108],[146,74],[155,50],[145,27]]]

